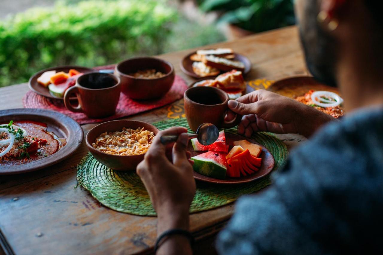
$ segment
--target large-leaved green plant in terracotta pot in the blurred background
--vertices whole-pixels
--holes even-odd
[[[203,11],[217,11],[219,23],[229,24],[232,38],[295,24],[293,0],[199,0],[198,4]]]

